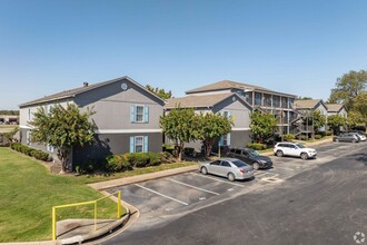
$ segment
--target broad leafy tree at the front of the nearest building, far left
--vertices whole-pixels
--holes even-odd
[[[72,147],[82,147],[93,140],[96,125],[89,120],[95,111],[89,109],[80,112],[73,104],[68,104],[66,108],[56,105],[50,112],[40,107],[34,119],[29,122],[33,127],[31,140],[51,145],[61,161],[61,171],[70,170],[68,160]]]

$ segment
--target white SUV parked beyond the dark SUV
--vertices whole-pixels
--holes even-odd
[[[274,147],[274,154],[278,157],[294,156],[306,160],[308,158],[316,158],[317,151],[313,148],[306,148],[299,143],[277,143]]]

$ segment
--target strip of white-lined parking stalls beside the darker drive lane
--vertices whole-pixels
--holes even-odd
[[[199,170],[155,180],[108,189],[121,190],[122,199],[140,210],[140,222],[157,222],[170,215],[222,202],[254,189],[271,188],[287,178],[347,155],[364,147],[365,143],[331,143],[316,147],[317,159],[301,160],[291,157],[271,157],[274,167],[257,170],[251,180],[229,182],[227,178],[202,175]]]

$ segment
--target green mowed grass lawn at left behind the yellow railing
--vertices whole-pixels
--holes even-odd
[[[0,147],[0,242],[51,239],[51,208],[95,200],[101,194],[86,177],[54,176],[37,160]],[[100,218],[116,218],[117,204],[98,204]],[[92,207],[60,213],[58,218],[92,217]]]

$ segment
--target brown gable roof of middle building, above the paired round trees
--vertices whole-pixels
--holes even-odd
[[[217,104],[228,99],[229,97],[236,96],[238,100],[244,101],[249,108],[251,106],[246,102],[240,96],[235,92],[230,94],[219,94],[219,95],[207,95],[207,96],[186,96],[181,98],[171,98],[167,100],[165,106],[166,109],[173,109],[178,105],[182,108],[202,108],[202,107],[214,107]]]

